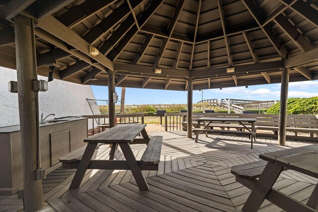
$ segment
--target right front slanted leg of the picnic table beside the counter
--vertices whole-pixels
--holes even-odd
[[[128,143],[119,143],[120,148],[126,158],[128,166],[136,180],[136,183],[140,190],[149,190],[148,184],[141,172],[141,169],[137,163],[133,151]]]

